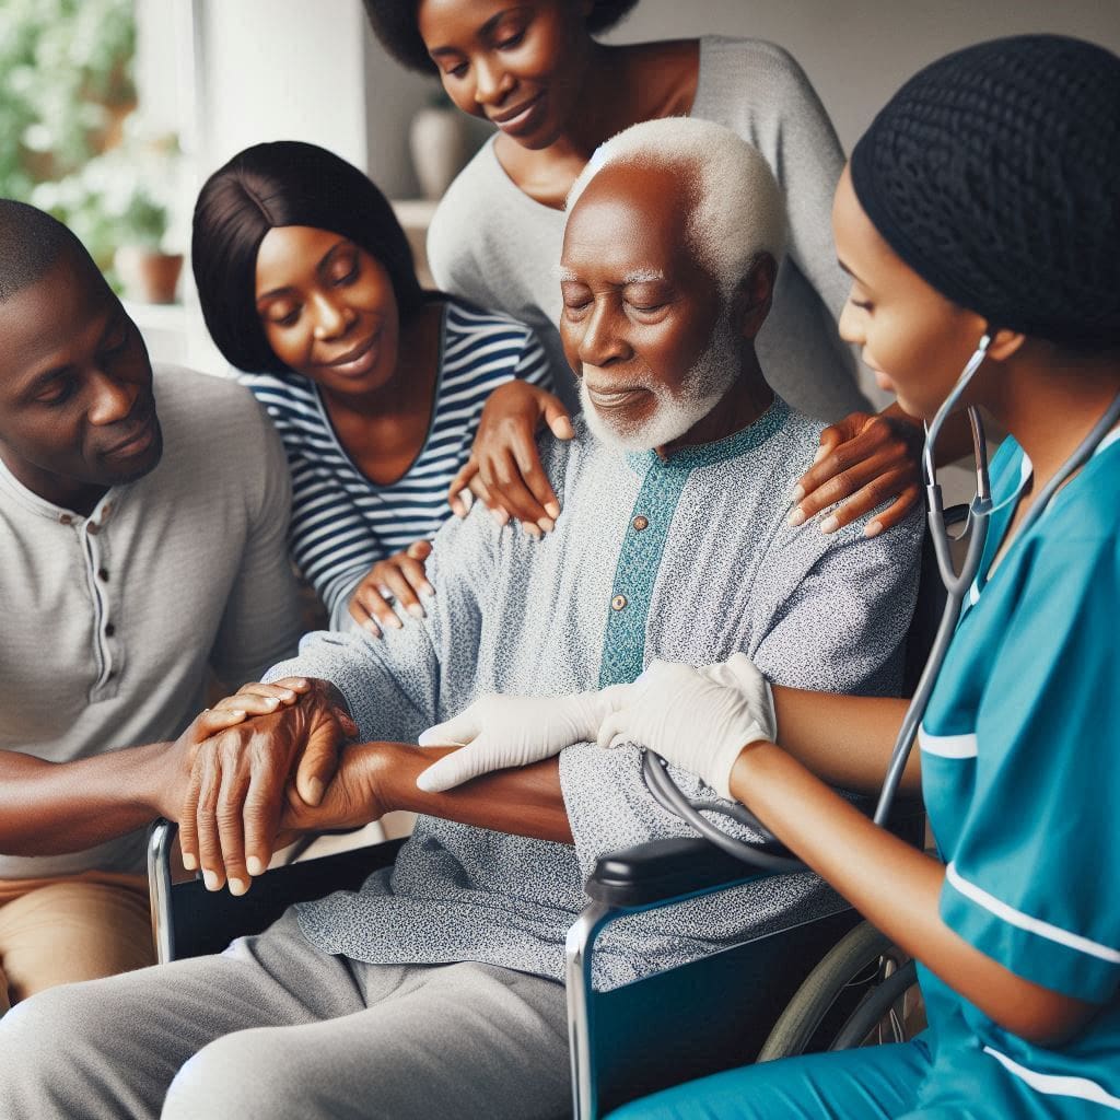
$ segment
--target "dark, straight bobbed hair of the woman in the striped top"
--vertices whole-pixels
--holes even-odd
[[[256,253],[269,230],[284,225],[328,230],[364,249],[389,273],[401,319],[423,302],[404,231],[362,171],[298,140],[254,144],[206,180],[190,248],[206,327],[239,370],[288,368],[256,314]]]

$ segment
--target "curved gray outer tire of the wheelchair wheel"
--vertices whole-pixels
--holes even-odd
[[[785,1010],[774,1024],[774,1029],[758,1052],[756,1062],[773,1062],[793,1057],[810,1049],[830,1048],[831,1038],[814,1039],[825,1017],[846,993],[864,988],[862,1004],[878,983],[907,962],[907,958],[889,937],[879,933],[869,922],[861,922],[836,943],[820,964],[805,978]],[[850,1008],[846,1009],[851,1011]],[[858,1014],[844,1014],[849,1021]],[[841,1028],[842,1029],[842,1028]],[[813,1043],[816,1045],[811,1045]]]

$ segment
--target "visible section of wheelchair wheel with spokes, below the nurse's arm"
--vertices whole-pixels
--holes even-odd
[[[757,1062],[822,1049],[904,1042],[911,1034],[913,962],[861,922],[837,942],[797,989]],[[916,1032],[913,1032],[916,1033]]]

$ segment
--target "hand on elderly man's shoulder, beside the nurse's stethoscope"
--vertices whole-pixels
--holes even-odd
[[[821,532],[833,533],[893,497],[864,533],[877,536],[897,525],[922,497],[923,442],[921,426],[896,405],[878,416],[853,412],[825,428],[814,465],[793,492],[790,524],[841,502],[820,523]]]

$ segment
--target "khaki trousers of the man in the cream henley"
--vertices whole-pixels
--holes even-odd
[[[0,879],[0,1015],[44,988],[155,960],[143,877]]]

